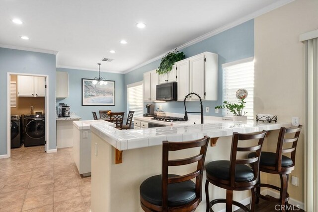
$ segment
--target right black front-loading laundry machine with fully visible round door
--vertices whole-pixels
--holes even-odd
[[[24,146],[44,145],[45,115],[24,115]]]

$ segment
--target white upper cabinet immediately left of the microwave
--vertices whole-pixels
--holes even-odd
[[[156,86],[159,83],[159,75],[156,70],[144,73],[143,96],[144,101],[156,101]]]

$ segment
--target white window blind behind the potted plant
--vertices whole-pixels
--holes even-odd
[[[238,103],[236,92],[239,88],[247,90],[248,95],[243,112],[245,116],[253,119],[254,109],[254,63],[253,58],[247,58],[222,65],[223,68],[223,101]],[[222,109],[224,117],[233,117],[228,109]]]

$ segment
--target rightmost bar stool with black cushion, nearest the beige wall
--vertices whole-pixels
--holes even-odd
[[[281,210],[285,211],[285,206],[288,204],[289,194],[287,193],[288,188],[288,175],[295,169],[295,157],[296,157],[296,146],[297,141],[302,130],[302,125],[295,128],[284,128],[282,127],[279,131],[276,152],[263,151],[260,156],[259,172],[266,172],[271,174],[279,174],[281,187],[277,187],[270,184],[261,183],[260,177],[255,185],[256,189],[256,203],[259,198],[280,203]],[[284,147],[284,144],[290,143],[290,146]],[[288,145],[288,144],[287,144]],[[291,156],[285,156],[283,153],[291,152]],[[248,154],[248,157],[254,157],[254,153]],[[279,198],[271,196],[264,196],[260,194],[260,188],[267,187],[279,191]]]

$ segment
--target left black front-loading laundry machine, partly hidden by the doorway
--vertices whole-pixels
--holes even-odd
[[[21,147],[22,142],[22,126],[21,114],[11,115],[11,148]]]

